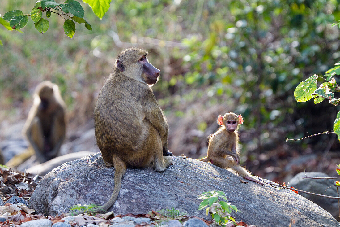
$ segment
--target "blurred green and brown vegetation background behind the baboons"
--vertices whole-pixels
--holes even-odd
[[[36,85],[48,79],[68,106],[68,130],[91,125],[116,55],[136,46],[148,49],[161,71],[152,89],[168,118],[174,154],[206,154],[218,115],[232,111],[244,118],[241,164],[254,175],[275,181],[305,168],[336,174],[335,134],[294,142],[285,137],[333,129],[337,107],[297,103],[293,92],[339,61],[339,28],[332,27],[340,20],[339,1],[113,0],[102,20],[79,2],[93,29],[77,24],[72,39],[56,15],[45,34],[32,21],[22,33],[0,27],[1,122],[26,119]],[[1,0],[0,14],[29,13],[34,4]]]

